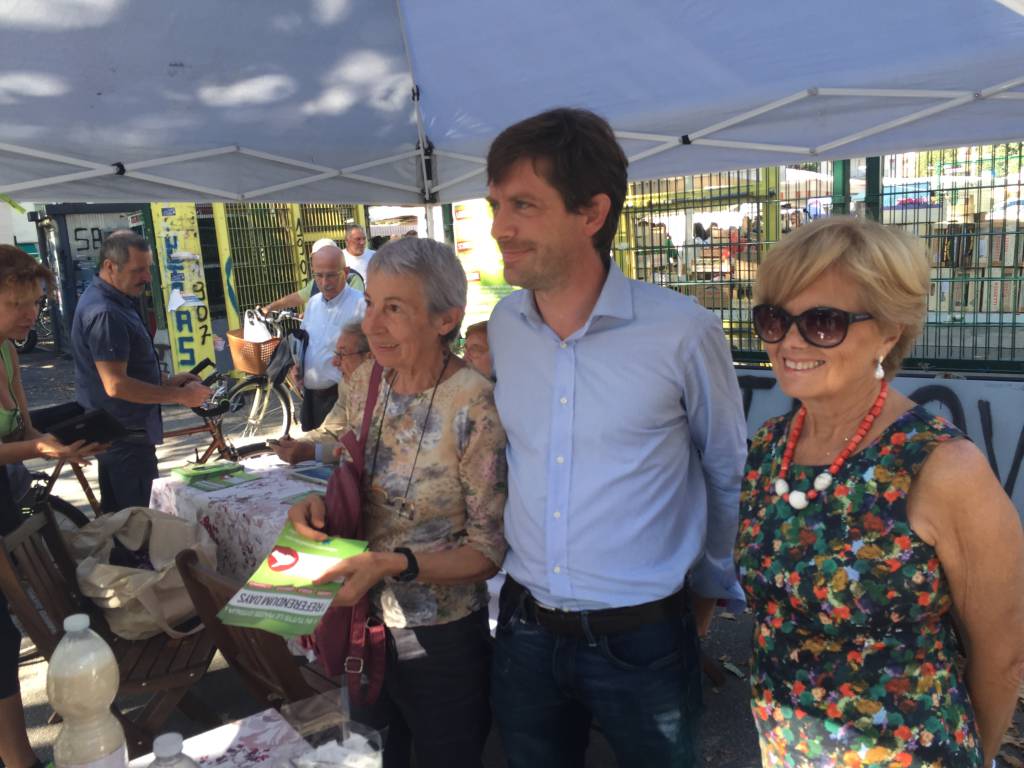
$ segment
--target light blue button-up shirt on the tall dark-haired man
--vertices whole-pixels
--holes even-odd
[[[506,571],[543,605],[678,591],[742,600],[733,565],[746,426],[729,345],[692,299],[612,264],[565,340],[532,293],[487,325],[508,433]]]

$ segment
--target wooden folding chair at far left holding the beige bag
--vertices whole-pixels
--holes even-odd
[[[175,708],[208,727],[220,725],[188,692],[210,666],[215,647],[206,630],[175,640],[161,634],[148,640],[114,635],[102,612],[78,589],[73,562],[48,506],[35,512],[10,535],[0,537],[0,589],[11,612],[47,662],[63,635],[63,620],[88,613],[91,628],[114,650],[121,687],[111,708],[121,721],[131,757],[153,749],[153,738]],[[145,706],[125,714],[124,696],[144,694]]]

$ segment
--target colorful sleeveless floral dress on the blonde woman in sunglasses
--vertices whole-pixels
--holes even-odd
[[[763,765],[980,766],[949,586],[906,517],[932,449],[962,433],[913,408],[795,510],[773,489],[790,421],[755,436],[740,496],[736,562],[755,616]],[[825,468],[792,465],[786,479],[806,490]]]

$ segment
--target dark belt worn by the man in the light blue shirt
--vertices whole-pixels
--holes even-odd
[[[534,599],[529,590],[508,575],[505,577],[505,586],[502,587],[502,592],[504,593],[506,590],[508,590],[508,599],[521,606],[519,615],[523,621],[540,625],[557,635],[573,637],[586,637],[588,634],[614,635],[620,632],[630,632],[644,625],[680,617],[687,611],[685,588],[649,603],[599,610],[546,608]],[[503,599],[502,602],[505,600]]]

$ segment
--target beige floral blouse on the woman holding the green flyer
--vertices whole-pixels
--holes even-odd
[[[356,430],[362,423],[372,370],[373,361],[368,360],[343,386],[346,421]],[[501,565],[507,547],[508,468],[494,385],[469,367],[460,369],[437,386],[431,407],[433,387],[417,394],[392,391],[387,396],[388,378],[381,377],[367,437],[370,484],[365,488],[365,514],[370,549],[440,552],[469,545]],[[385,399],[387,413],[382,414]],[[371,597],[388,627],[423,627],[454,622],[486,607],[487,588],[485,582],[442,586],[388,580]]]

